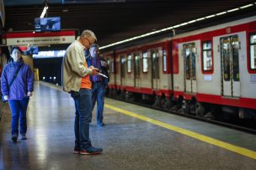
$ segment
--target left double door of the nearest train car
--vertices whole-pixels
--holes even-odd
[[[184,44],[184,92],[196,92],[195,43]]]

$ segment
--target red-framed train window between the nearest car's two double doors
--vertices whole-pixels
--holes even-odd
[[[207,41],[203,43],[203,48],[202,48],[202,56],[203,56],[203,71],[212,71],[212,52],[211,52],[211,41]]]

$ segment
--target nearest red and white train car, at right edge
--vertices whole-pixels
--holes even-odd
[[[184,112],[205,116],[221,106],[255,116],[255,44],[256,17],[173,37],[173,95],[184,100]]]

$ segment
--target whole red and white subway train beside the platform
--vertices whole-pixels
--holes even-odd
[[[103,56],[109,95],[199,117],[256,120],[256,16]]]

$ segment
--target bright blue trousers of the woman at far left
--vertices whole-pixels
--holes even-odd
[[[9,100],[8,101],[12,112],[12,134],[19,134],[19,121],[20,121],[20,133],[27,132],[27,107],[29,104],[29,98],[25,97],[22,100]]]

